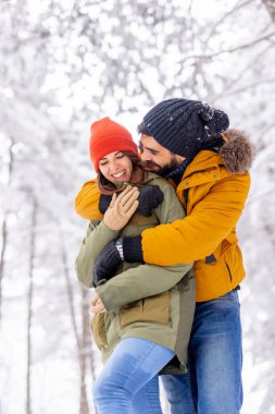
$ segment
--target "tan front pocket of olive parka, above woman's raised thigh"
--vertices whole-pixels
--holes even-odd
[[[160,293],[123,306],[121,328],[134,322],[170,324],[170,292]]]

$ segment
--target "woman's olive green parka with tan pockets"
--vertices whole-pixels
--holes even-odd
[[[87,288],[92,287],[95,263],[110,242],[184,217],[168,182],[150,173],[147,183],[158,185],[164,194],[163,203],[150,217],[136,212],[121,231],[108,229],[100,220],[90,221],[76,259],[77,277]],[[134,337],[175,352],[176,367],[166,367],[165,374],[186,372],[196,295],[192,264],[159,267],[123,263],[116,276],[96,291],[107,309],[95,315],[91,324],[103,362],[122,339]]]

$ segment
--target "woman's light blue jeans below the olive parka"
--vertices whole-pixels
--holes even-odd
[[[174,355],[145,339],[123,339],[95,383],[98,414],[161,414],[158,373]]]

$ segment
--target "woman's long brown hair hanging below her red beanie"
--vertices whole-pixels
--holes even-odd
[[[130,184],[141,187],[146,185],[148,172],[142,169],[142,162],[138,156],[133,153],[122,151],[125,156],[127,156],[133,165],[133,172],[130,176]],[[98,174],[98,187],[102,194],[112,195],[113,193],[118,193],[122,188],[117,188],[111,181],[107,180],[104,175],[99,171]]]

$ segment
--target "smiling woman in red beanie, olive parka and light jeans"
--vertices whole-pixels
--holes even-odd
[[[132,205],[137,197],[135,187],[113,195],[103,219],[90,222],[76,260],[78,279],[88,288],[96,287],[100,301],[104,304],[108,299],[109,305],[92,320],[105,363],[93,387],[95,403],[99,414],[159,414],[159,373],[186,372],[195,309],[191,265],[157,267],[124,261],[108,281],[95,273],[95,267],[110,242],[180,219],[184,210],[174,188],[140,167],[129,132],[109,118],[91,125],[90,156],[98,172],[102,211],[110,195],[121,192],[125,183],[134,184],[140,194],[130,209],[127,199]]]

